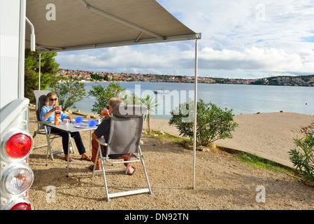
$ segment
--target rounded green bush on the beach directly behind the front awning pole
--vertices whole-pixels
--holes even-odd
[[[194,103],[180,104],[179,107],[171,111],[171,119],[169,125],[175,125],[180,135],[190,137],[194,136],[194,123],[191,118],[194,117]],[[190,119],[187,118],[187,112]],[[232,109],[220,109],[215,104],[205,104],[202,99],[197,102],[197,145],[208,146],[213,141],[218,139],[231,138],[238,124],[234,122],[234,114]]]

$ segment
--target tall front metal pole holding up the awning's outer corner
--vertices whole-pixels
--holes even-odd
[[[198,43],[195,41],[195,74],[194,74],[194,136],[193,136],[193,189],[195,189],[195,164],[197,154],[197,57],[198,57]]]

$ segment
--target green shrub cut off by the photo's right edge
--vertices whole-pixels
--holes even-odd
[[[291,162],[304,179],[314,182],[314,135],[308,134],[302,139],[294,139],[294,144],[299,148],[289,152]]]

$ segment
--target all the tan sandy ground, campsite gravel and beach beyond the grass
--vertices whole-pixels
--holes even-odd
[[[30,132],[36,130],[34,109],[30,109]],[[236,116],[239,127],[234,138],[219,141],[238,148],[265,153],[273,158],[287,160],[287,151],[294,147],[293,138],[303,137],[298,130],[314,122],[313,116],[295,113],[266,113]],[[152,120],[152,129],[176,135],[167,121]],[[81,133],[85,148],[89,148],[90,132]],[[234,155],[224,151],[197,151],[196,182],[192,189],[193,152],[166,139],[143,135],[141,146],[152,187],[152,195],[141,194],[117,197],[106,202],[101,174],[92,178],[76,152],[71,155],[70,174],[66,177],[63,154],[55,155],[45,165],[47,147],[34,149],[29,165],[34,172],[34,183],[29,199],[37,210],[208,210],[208,209],[314,209],[314,188],[304,185],[282,172],[248,167]],[[34,139],[35,146],[45,144],[45,136]],[[59,150],[61,139],[52,144]],[[108,188],[135,190],[145,187],[140,164],[134,164],[133,176],[108,174]],[[266,190],[265,202],[257,199],[258,189]],[[134,189],[135,188],[135,189]],[[51,196],[51,189],[54,190]]]

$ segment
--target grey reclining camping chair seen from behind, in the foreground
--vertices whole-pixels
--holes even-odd
[[[150,183],[148,181],[148,175],[145,168],[145,163],[143,160],[143,155],[141,152],[141,134],[143,128],[143,113],[147,108],[145,106],[140,105],[117,105],[111,112],[111,121],[110,121],[110,133],[108,138],[108,144],[105,143],[104,139],[98,138],[96,139],[99,143],[97,157],[94,164],[93,174],[95,172],[103,172],[104,176],[104,184],[106,188],[107,201],[109,201],[110,197],[121,197],[125,195],[134,195],[140,193],[150,193],[152,194],[152,190],[150,189]],[[126,113],[125,113],[126,112]],[[101,145],[107,148],[106,155],[101,153]],[[129,161],[117,161],[117,159],[110,158],[110,155],[114,154],[128,154],[132,153],[131,160]],[[97,160],[100,157],[101,159],[101,170],[96,171]],[[108,162],[112,165],[127,163],[126,168],[117,168],[117,169],[105,169],[104,162]],[[119,193],[108,193],[107,181],[106,181],[106,173],[107,172],[120,172],[125,171],[127,174],[127,170],[130,162],[141,162],[144,169],[144,174],[146,177],[146,181],[148,183],[148,188],[143,188],[139,190],[129,190]]]

